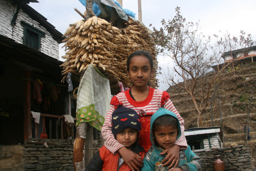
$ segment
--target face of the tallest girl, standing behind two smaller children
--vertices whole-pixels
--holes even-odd
[[[127,75],[133,82],[133,86],[147,87],[147,82],[153,75],[153,69],[151,69],[150,61],[147,57],[142,55],[132,57],[128,67]]]

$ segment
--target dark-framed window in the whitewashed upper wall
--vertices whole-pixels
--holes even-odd
[[[46,33],[23,21],[21,25],[24,27],[23,44],[32,49],[39,50],[41,37],[45,37]]]

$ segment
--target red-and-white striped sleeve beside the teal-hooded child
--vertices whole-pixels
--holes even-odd
[[[181,127],[181,136],[176,140],[177,145],[184,147],[185,149],[187,148],[187,141],[184,135],[184,130],[185,130],[185,123],[183,118],[180,116],[179,112],[177,111],[177,109],[175,108],[173,102],[168,98],[165,101],[164,104],[164,108],[172,111],[173,113],[175,113],[175,115],[178,117],[179,121],[180,121],[180,127]]]

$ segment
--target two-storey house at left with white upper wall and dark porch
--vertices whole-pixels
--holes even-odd
[[[0,1],[0,170],[73,170],[75,127],[62,115],[74,118],[76,103],[61,82],[63,37],[28,5],[36,2]]]

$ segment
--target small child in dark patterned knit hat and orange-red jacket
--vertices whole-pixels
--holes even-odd
[[[140,118],[137,112],[132,109],[119,106],[112,114],[112,133],[115,139],[126,148],[144,157],[144,148],[138,145],[139,132],[141,130]],[[131,170],[119,153],[113,155],[105,146],[93,156],[86,167],[86,171],[101,170]]]

